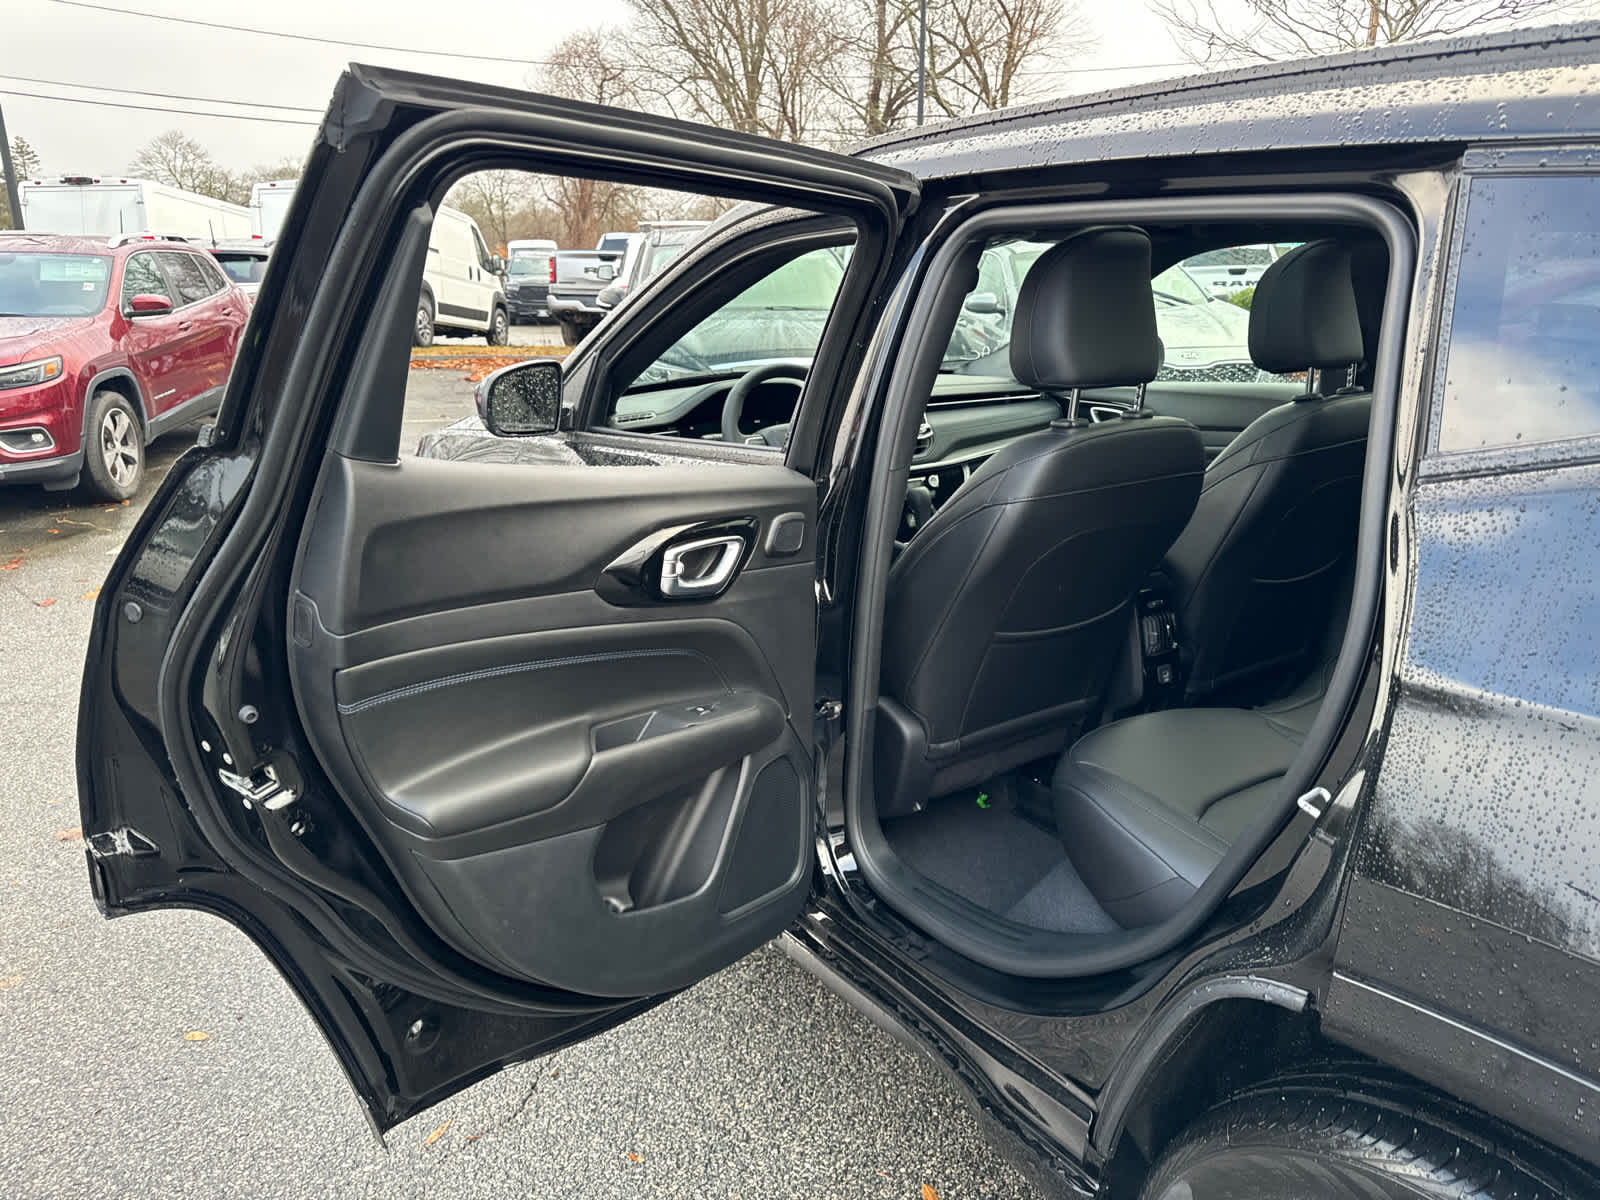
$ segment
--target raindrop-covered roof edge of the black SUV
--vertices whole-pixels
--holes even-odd
[[[1107,158],[1600,136],[1600,22],[1411,42],[901,130],[854,152],[922,178]]]

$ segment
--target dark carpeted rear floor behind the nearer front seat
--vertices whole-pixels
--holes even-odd
[[[939,797],[914,816],[883,822],[909,867],[1018,925],[1051,933],[1114,933],[1050,830],[1010,803],[1008,789]]]

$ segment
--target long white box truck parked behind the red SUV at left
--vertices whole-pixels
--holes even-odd
[[[40,234],[163,234],[210,245],[250,237],[250,210],[150,179],[67,174],[18,187],[22,229]]]

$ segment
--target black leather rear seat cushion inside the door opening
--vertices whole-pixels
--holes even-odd
[[[1251,709],[1170,709],[1101,726],[1062,755],[1056,829],[1120,925],[1165,920],[1272,802],[1299,722]]]

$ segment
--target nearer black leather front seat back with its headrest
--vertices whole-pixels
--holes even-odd
[[[1077,234],[1038,258],[1011,370],[1045,394],[1149,382],[1150,240]],[[1205,456],[1176,418],[1056,421],[989,458],[890,570],[880,814],[1059,750],[1126,653],[1134,592],[1189,520]]]

